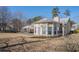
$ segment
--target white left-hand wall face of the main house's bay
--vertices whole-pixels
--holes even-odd
[[[47,24],[35,24],[34,25],[34,35],[44,35],[48,34]]]

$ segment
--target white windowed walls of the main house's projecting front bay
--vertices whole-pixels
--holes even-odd
[[[45,28],[43,28],[43,26]],[[48,33],[49,29],[48,27],[51,27],[51,34]],[[55,29],[56,27],[56,29]],[[34,25],[34,35],[42,35],[42,36],[58,36],[60,35],[59,33],[59,27],[60,24],[55,23],[55,24],[35,24]],[[43,33],[45,31],[45,34]],[[56,31],[56,34],[54,33]]]

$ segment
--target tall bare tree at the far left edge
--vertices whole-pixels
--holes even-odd
[[[9,17],[10,17],[10,13],[8,11],[8,7],[5,7],[5,6],[0,7],[0,30],[1,31],[6,30]]]

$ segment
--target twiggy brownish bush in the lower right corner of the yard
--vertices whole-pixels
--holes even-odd
[[[67,37],[67,39],[65,40],[66,44],[66,50],[68,52],[77,52],[79,51],[79,44],[78,41],[76,39],[73,39],[72,37]]]

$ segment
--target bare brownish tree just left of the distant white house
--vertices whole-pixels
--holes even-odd
[[[22,25],[23,25],[22,20],[23,20],[22,12],[16,12],[12,19],[12,25],[13,25],[15,31],[19,32],[21,30]]]

